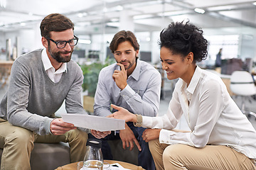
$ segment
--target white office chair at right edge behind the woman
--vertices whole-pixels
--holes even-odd
[[[255,82],[252,75],[245,71],[233,72],[230,77],[230,90],[233,94],[242,96],[242,105],[240,107],[242,113],[247,115],[248,118],[250,115],[253,115],[256,118],[255,113],[245,111],[245,98],[249,98],[256,94]]]

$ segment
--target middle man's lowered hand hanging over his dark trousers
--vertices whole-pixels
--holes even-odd
[[[132,132],[132,130],[129,128],[129,126],[125,123],[125,129],[124,130],[120,130],[120,138],[122,140],[122,145],[123,148],[125,149],[126,147],[130,147],[130,150],[132,150],[134,148],[134,144],[137,145],[139,151],[142,151],[142,147],[139,145],[138,140],[136,139],[136,137],[134,136],[134,133]]]

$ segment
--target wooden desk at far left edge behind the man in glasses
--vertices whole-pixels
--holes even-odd
[[[1,85],[1,88],[6,85],[9,79],[12,64],[14,64],[14,61],[0,60],[0,81],[4,81],[4,83]]]

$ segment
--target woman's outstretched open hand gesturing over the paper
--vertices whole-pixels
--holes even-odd
[[[117,111],[115,113],[112,113],[111,115],[107,116],[109,118],[116,118],[116,119],[122,119],[125,120],[125,122],[134,122],[137,123],[137,117],[133,113],[130,113],[127,111],[127,109],[111,105],[112,108],[116,109]]]

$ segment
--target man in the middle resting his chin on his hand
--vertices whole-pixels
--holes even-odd
[[[114,35],[110,43],[117,64],[101,70],[95,94],[95,115],[108,116],[110,103],[126,108],[138,115],[156,116],[159,110],[161,75],[151,64],[138,59],[139,44],[131,31],[121,30]],[[154,168],[154,161],[148,144],[142,139],[145,128],[125,125],[117,135],[112,132],[102,141],[104,159],[112,159],[106,140],[121,138],[123,148],[133,149],[134,143],[139,149],[138,163],[144,169]]]

